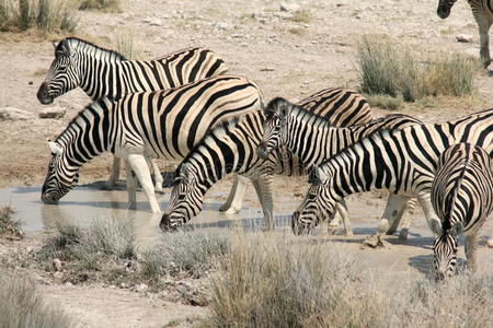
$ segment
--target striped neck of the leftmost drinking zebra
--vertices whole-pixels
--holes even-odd
[[[111,150],[111,118],[102,104],[93,103],[69,124],[56,142],[64,149],[68,164],[80,167],[99,154]],[[104,105],[104,104],[103,104]],[[105,113],[106,112],[106,113]]]

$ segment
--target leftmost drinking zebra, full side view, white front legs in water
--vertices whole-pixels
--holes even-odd
[[[81,110],[55,141],[42,200],[56,203],[78,180],[79,168],[104,151],[123,159],[128,198],[136,207],[137,176],[152,212],[160,212],[144,156],[182,160],[207,129],[260,110],[259,87],[243,77],[220,75],[179,87],[98,99]]]

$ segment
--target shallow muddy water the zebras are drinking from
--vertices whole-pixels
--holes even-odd
[[[263,215],[253,188],[250,186],[239,214],[226,215],[218,211],[227,198],[230,184],[214,186],[206,195],[204,210],[194,218],[186,229],[231,229],[259,230]],[[277,188],[276,190],[286,190]],[[170,189],[158,196],[161,210],[168,203]],[[127,210],[127,192],[121,190],[101,190],[98,185],[77,187],[67,194],[57,206],[46,206],[39,199],[41,187],[15,187],[0,189],[0,206],[10,204],[16,216],[23,221],[26,232],[53,229],[57,223],[72,222],[82,226],[96,218],[129,218],[136,234],[137,243],[151,246],[163,233],[159,229],[161,214],[152,214],[142,192],[137,192],[137,210]],[[275,223],[279,233],[290,233],[289,216],[298,206],[300,198],[289,191],[277,191],[275,200]],[[408,241],[399,241],[397,236],[388,238],[390,247],[385,249],[362,249],[362,242],[376,232],[377,219],[383,211],[386,197],[375,194],[353,195],[348,197],[351,223],[354,237],[342,235],[321,236],[326,225],[319,227],[314,234],[343,245],[344,249],[357,254],[358,258],[374,274],[385,274],[385,286],[410,281],[411,278],[428,276],[433,263],[433,235],[428,230],[420,209],[412,215],[412,225]],[[484,246],[484,239],[493,232],[493,220],[489,220],[482,229],[479,246],[479,265],[482,270],[493,270],[493,249]],[[463,259],[463,247],[459,256]]]

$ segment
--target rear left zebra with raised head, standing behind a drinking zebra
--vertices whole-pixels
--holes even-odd
[[[103,96],[114,99],[145,91],[165,90],[200,79],[225,74],[228,69],[213,50],[187,48],[153,60],[127,60],[121,54],[101,48],[87,40],[68,37],[53,43],[55,59],[37,91],[38,101],[54,99],[78,86],[96,101]],[[162,176],[152,163],[157,189]],[[119,176],[119,159],[114,157],[106,184],[112,188]]]

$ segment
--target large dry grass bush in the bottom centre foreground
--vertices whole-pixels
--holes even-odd
[[[382,327],[393,307],[354,256],[313,239],[234,236],[213,284],[210,326]]]

